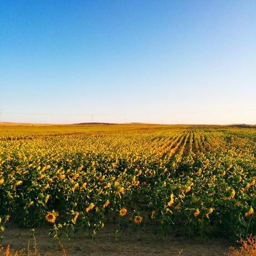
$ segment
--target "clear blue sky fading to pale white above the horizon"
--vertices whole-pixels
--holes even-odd
[[[1,1],[2,121],[256,124],[256,1]]]

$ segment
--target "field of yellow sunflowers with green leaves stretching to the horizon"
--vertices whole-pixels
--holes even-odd
[[[0,227],[256,230],[256,129],[0,126]]]

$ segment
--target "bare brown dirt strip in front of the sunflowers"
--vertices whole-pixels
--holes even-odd
[[[36,244],[41,256],[62,255],[58,241],[48,235],[49,229],[38,228],[35,232]],[[33,250],[32,232],[9,224],[1,244],[10,245],[13,250],[29,247]],[[89,233],[73,234],[71,239],[63,239],[67,256],[77,255],[224,255],[230,241],[220,238],[186,239],[176,234],[163,234],[149,228],[130,232],[126,230],[116,235],[115,225],[100,230],[95,239]]]

